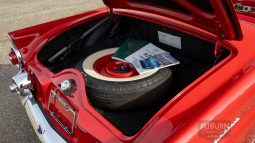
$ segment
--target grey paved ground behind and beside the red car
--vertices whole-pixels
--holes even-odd
[[[18,97],[8,90],[18,69],[9,62],[10,31],[103,7],[101,0],[0,1],[0,143],[39,142]]]

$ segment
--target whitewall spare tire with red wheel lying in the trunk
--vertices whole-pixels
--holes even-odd
[[[115,68],[117,73],[112,73],[108,69],[112,68],[111,62],[117,65],[120,62],[111,59],[117,49],[98,51],[84,60],[82,66],[90,102],[100,108],[131,109],[149,105],[162,97],[171,83],[171,70],[163,68],[139,75],[129,65],[127,69]]]

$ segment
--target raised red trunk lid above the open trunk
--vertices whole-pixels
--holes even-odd
[[[231,0],[103,0],[114,9],[132,9],[174,18],[227,40],[242,39]]]

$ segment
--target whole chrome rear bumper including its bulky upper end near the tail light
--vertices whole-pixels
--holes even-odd
[[[26,88],[26,85],[23,84],[22,88],[19,88],[19,81],[17,79],[23,83],[30,83],[24,82],[27,80],[26,75],[27,74],[25,71],[21,71],[14,76],[12,78],[13,83],[10,86],[10,90],[19,94],[19,98],[26,109],[27,115],[37,136],[43,143],[66,143],[66,141],[57,132],[55,132],[54,129],[51,128],[49,122],[43,115],[42,110],[34,100],[32,93],[28,88]],[[13,87],[15,87],[15,90]]]

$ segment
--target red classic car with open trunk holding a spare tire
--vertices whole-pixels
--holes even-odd
[[[231,0],[104,3],[9,33],[10,90],[42,142],[255,141],[255,25]],[[180,64],[139,75],[112,59],[128,38]]]

